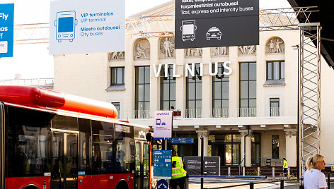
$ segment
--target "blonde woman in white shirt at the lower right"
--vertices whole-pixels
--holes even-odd
[[[304,173],[304,188],[318,189],[326,188],[326,177],[321,170],[325,169],[325,158],[321,154],[314,154],[306,161],[307,171]]]

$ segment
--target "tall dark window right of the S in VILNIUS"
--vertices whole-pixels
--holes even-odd
[[[256,116],[256,63],[239,64],[239,116]]]

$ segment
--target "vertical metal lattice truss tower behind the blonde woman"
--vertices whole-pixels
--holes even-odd
[[[306,160],[320,153],[321,26],[299,24],[299,176]]]

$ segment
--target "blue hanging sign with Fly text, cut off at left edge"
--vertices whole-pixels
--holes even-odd
[[[13,57],[14,4],[0,4],[0,57]]]

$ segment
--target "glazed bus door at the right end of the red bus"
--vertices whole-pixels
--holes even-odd
[[[149,188],[149,142],[146,140],[134,140],[134,188],[146,189]]]

